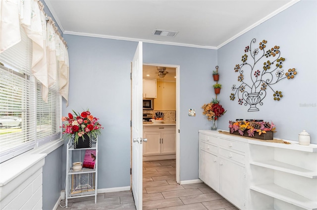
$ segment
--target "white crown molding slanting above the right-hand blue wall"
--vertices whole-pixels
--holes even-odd
[[[259,20],[258,22],[254,23],[253,25],[249,26],[248,28],[246,28],[245,30],[241,31],[240,33],[236,34],[235,36],[231,37],[230,39],[228,39],[227,41],[223,42],[222,44],[220,44],[219,46],[216,47],[216,49],[218,50],[219,48],[223,47],[224,45],[228,44],[229,42],[231,42],[232,40],[240,37],[241,35],[245,34],[246,32],[250,31],[251,29],[257,27],[258,25],[260,25],[261,23],[265,22],[266,20],[270,19],[271,17],[275,16],[276,14],[284,11],[285,9],[287,9],[288,7],[294,5],[295,3],[297,3],[300,0],[292,0],[289,3],[285,4],[284,6],[276,9],[275,11],[273,11],[272,13],[266,15],[264,18],[262,18],[261,20]]]

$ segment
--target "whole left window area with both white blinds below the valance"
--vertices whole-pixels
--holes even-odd
[[[20,31],[21,42],[0,53],[0,162],[61,136],[59,81],[44,102],[31,74],[32,41]]]

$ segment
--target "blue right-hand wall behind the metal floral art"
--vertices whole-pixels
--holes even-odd
[[[241,84],[234,67],[242,63],[244,49],[250,46],[253,38],[256,38],[253,44],[255,48],[259,48],[263,40],[267,41],[265,51],[275,45],[279,46],[280,55],[285,58],[282,68],[284,72],[295,68],[298,74],[294,79],[284,79],[272,86],[283,93],[279,102],[273,100],[273,92],[268,90],[264,104],[257,105],[260,111],[248,112],[249,105],[239,105],[237,97],[235,101],[230,101],[229,96],[232,85]],[[317,1],[302,0],[220,48],[219,83],[223,88],[219,99],[228,111],[221,117],[218,127],[228,130],[228,121],[236,118],[264,119],[276,125],[276,138],[298,141],[298,134],[306,130],[311,134],[311,142],[317,144],[316,46]],[[248,59],[252,59],[250,54]],[[263,60],[258,65],[260,68],[263,68],[263,62],[267,59]],[[248,74],[249,71],[245,71],[245,79],[250,78]]]

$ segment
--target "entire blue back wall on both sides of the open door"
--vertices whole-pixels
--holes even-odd
[[[64,35],[70,60],[69,106],[86,107],[105,127],[100,137],[98,188],[130,185],[130,62],[136,42]],[[210,101],[211,69],[216,51],[168,45],[143,45],[145,63],[180,65],[181,180],[198,177],[198,129],[209,128],[204,116],[188,109]],[[206,77],[206,75],[210,77]],[[190,155],[188,155],[190,154]]]

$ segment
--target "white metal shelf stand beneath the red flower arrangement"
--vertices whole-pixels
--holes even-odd
[[[86,150],[96,151],[94,169],[82,167],[80,170],[74,170],[73,162],[84,162]],[[70,138],[66,148],[66,181],[65,181],[65,198],[66,207],[68,199],[82,198],[88,196],[95,197],[97,203],[97,186],[98,186],[98,136],[92,141],[91,148],[74,149],[74,140]]]

